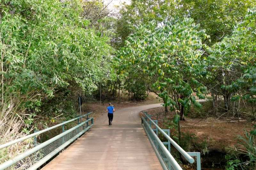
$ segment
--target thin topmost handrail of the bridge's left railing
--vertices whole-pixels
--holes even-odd
[[[31,138],[31,137],[40,135],[41,133],[44,133],[44,132],[49,131],[49,130],[51,130],[51,129],[57,128],[57,127],[59,127],[59,126],[62,126],[62,125],[64,125],[64,124],[67,124],[67,123],[72,122],[72,121],[74,121],[74,120],[77,120],[77,119],[79,119],[79,118],[81,118],[81,117],[83,117],[83,116],[90,115],[91,113],[92,113],[92,112],[87,113],[87,114],[82,115],[82,116],[79,116],[79,117],[76,117],[76,118],[71,119],[71,120],[69,120],[69,121],[62,122],[62,123],[57,124],[57,125],[55,125],[55,126],[52,126],[52,127],[50,127],[50,128],[47,128],[47,129],[44,129],[44,130],[40,130],[40,131],[38,131],[38,132],[32,133],[32,134],[30,134],[30,135],[27,135],[27,136],[25,136],[25,137],[21,137],[21,138],[19,138],[19,139],[16,139],[16,140],[10,141],[10,142],[8,142],[8,143],[2,144],[2,145],[0,145],[0,149],[5,148],[5,147],[7,147],[7,146],[10,146],[10,145],[12,145],[12,144],[16,144],[16,143],[21,142],[21,141],[23,141],[23,140],[26,140],[26,139],[28,139],[28,138]]]

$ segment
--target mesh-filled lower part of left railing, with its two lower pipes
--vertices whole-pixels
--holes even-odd
[[[89,122],[91,125],[88,126]],[[17,169],[17,170],[25,170],[29,169],[36,169],[45,161],[49,160],[54,156],[56,153],[60,152],[60,150],[64,149],[68,146],[71,142],[73,142],[77,137],[82,135],[85,131],[90,129],[93,125],[93,118],[87,118],[84,122],[78,123],[78,125],[71,127],[68,130],[63,131],[56,137],[53,137],[42,144],[36,144],[30,150],[22,153],[24,156],[20,158],[13,158],[12,162],[10,161],[7,163],[0,165],[0,169]],[[69,126],[70,127],[70,126]],[[21,154],[21,155],[22,155]],[[47,157],[46,157],[47,156]]]

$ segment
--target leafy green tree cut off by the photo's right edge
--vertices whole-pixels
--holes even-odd
[[[220,85],[221,92],[218,90],[215,92],[224,96],[224,109],[233,111],[234,114],[235,112],[239,113],[240,100],[243,100],[250,103],[251,113],[255,115],[255,18],[255,8],[249,9],[243,22],[235,27],[232,35],[216,43],[208,57],[213,80],[219,79],[219,82],[212,82],[212,89],[214,86]],[[236,104],[236,102],[238,103]],[[249,110],[247,112],[250,113]]]

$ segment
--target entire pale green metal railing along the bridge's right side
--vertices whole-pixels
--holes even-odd
[[[201,158],[200,152],[186,152],[184,151],[171,137],[169,129],[161,129],[157,123],[157,120],[152,120],[151,115],[148,115],[147,112],[143,112],[145,117],[141,117],[141,123],[145,132],[148,136],[148,139],[156,152],[156,156],[160,161],[161,166],[164,170],[182,170],[177,161],[173,158],[171,154],[171,145],[174,146],[178,152],[186,159],[189,163],[194,163],[195,160],[191,156],[196,156],[196,166],[197,170],[201,170]],[[152,126],[155,129],[152,129]],[[167,134],[166,134],[167,132]],[[168,142],[162,142],[158,138],[158,133],[161,133]],[[167,148],[166,148],[167,146]]]

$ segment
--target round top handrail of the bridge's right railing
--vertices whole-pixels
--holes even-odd
[[[170,143],[180,152],[181,155],[184,156],[185,159],[188,160],[189,163],[194,163],[195,160],[188,155],[188,153],[186,151],[184,151],[171,137],[169,137],[154,121],[151,120],[151,118],[145,113],[143,112],[143,114],[148,118],[148,120],[156,126],[156,128],[158,129],[159,132],[161,132],[164,137],[167,138],[167,140],[170,141]]]

